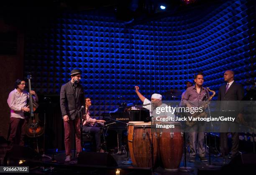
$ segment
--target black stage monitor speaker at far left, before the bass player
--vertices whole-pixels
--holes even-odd
[[[13,145],[12,150],[10,150],[10,152],[6,154],[6,157],[39,160],[41,158],[41,155],[30,147]]]

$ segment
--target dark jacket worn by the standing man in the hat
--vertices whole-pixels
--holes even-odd
[[[77,84],[77,93],[75,93],[72,85],[73,83],[69,81],[61,86],[60,106],[62,118],[68,115],[69,119],[74,120],[76,117],[79,117],[79,110],[85,105],[85,100],[82,85]],[[82,110],[82,113],[85,114],[84,110]]]

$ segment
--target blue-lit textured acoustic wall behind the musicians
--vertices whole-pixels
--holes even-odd
[[[198,71],[217,92],[227,69],[249,89],[256,75],[254,26],[253,0],[230,0],[132,27],[115,18],[64,13],[50,25],[28,28],[24,73],[32,72],[38,93],[59,94],[69,72],[80,68],[95,116],[123,101],[140,103],[135,85],[147,98],[184,91],[184,81]]]

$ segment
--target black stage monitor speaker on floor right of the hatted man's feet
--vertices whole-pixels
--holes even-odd
[[[117,166],[117,162],[110,153],[104,152],[81,152],[77,158],[78,164],[83,165],[100,165],[100,166]]]

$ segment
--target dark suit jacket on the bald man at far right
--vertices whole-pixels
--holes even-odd
[[[244,96],[244,89],[241,84],[236,83],[235,81],[231,84],[229,87],[227,93],[226,91],[227,84],[224,84],[220,86],[219,92],[218,92],[218,101],[226,101],[220,103],[220,110],[235,110],[235,111],[241,111],[241,106],[239,106],[238,103],[228,103],[228,101],[241,101]]]

